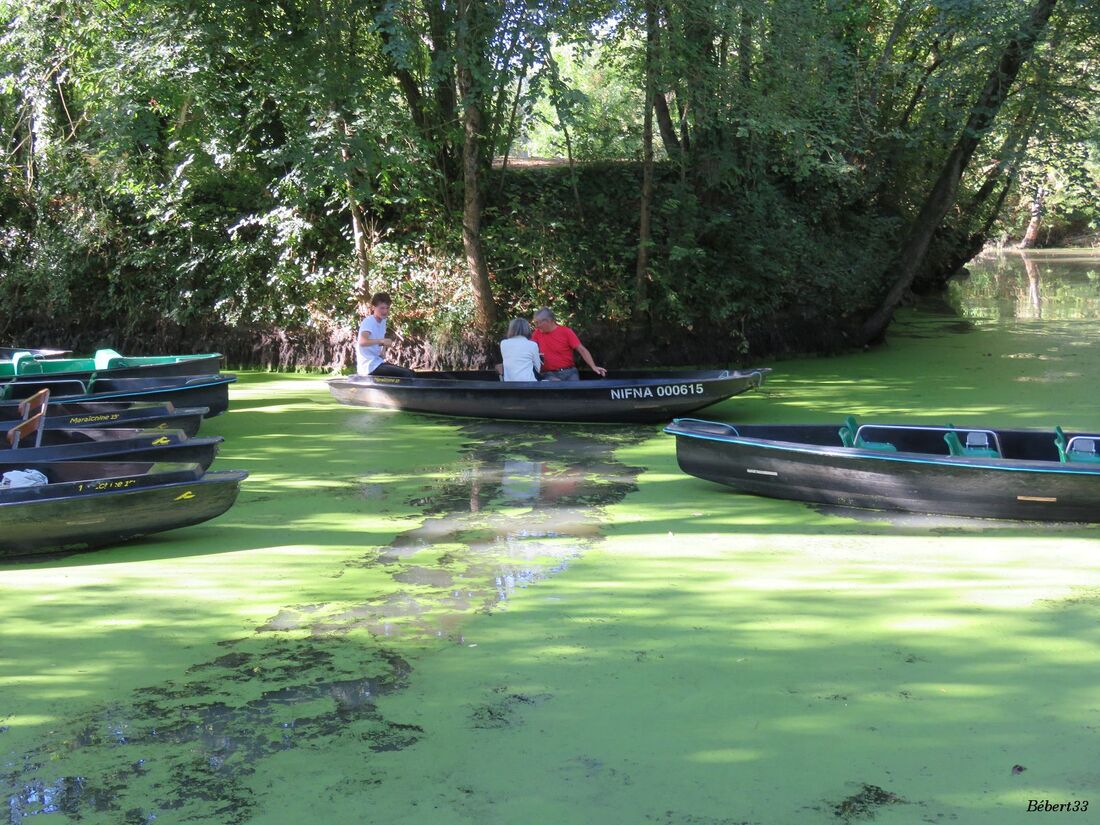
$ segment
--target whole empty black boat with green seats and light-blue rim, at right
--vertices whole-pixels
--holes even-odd
[[[776,498],[1041,521],[1100,521],[1100,435],[678,419],[680,469]]]

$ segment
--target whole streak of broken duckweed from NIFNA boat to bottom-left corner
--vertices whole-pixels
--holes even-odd
[[[405,648],[464,644],[466,618],[601,540],[600,507],[635,490],[640,472],[612,453],[651,436],[480,421],[459,431],[461,460],[409,502],[422,524],[331,572],[382,569],[389,586],[360,603],[286,606],[255,634],[218,642],[222,654],[179,679],[59,721],[48,739],[0,765],[7,822],[97,812],[123,823],[243,823],[263,759],[336,737],[375,752],[416,743],[419,728],[375,705],[405,686]],[[351,491],[378,497],[385,487],[360,480]]]

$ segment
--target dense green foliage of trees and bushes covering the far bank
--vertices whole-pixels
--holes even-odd
[[[457,333],[474,318],[460,212],[477,106],[503,316],[550,304],[666,359],[843,344],[1032,6],[2,0],[0,337],[294,337],[351,328],[376,288],[403,331]],[[972,245],[1012,182],[1012,229],[1040,183],[1054,219],[1097,226],[1093,7],[1056,8],[935,261]],[[671,123],[640,299],[641,170],[598,162],[641,154],[647,8]],[[575,172],[491,170],[494,152],[563,156],[565,129]]]

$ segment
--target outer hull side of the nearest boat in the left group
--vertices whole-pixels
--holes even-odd
[[[208,521],[233,505],[245,477],[228,471],[130,488],[105,482],[100,490],[0,501],[0,558],[92,549]]]

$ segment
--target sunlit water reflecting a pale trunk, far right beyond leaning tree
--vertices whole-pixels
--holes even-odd
[[[1100,319],[1100,250],[1002,250],[975,258],[948,299],[978,321]]]

